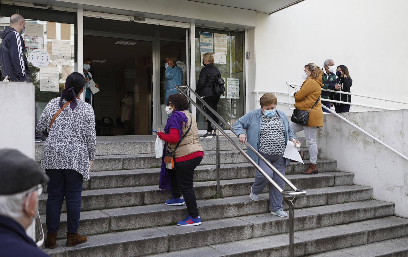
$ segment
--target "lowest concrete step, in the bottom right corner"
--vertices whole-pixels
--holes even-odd
[[[380,242],[363,244],[359,246],[348,247],[340,250],[334,250],[310,257],[406,257],[408,256],[408,237],[398,237]]]

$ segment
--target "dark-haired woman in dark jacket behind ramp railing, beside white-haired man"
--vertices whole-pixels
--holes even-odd
[[[348,73],[348,69],[344,65],[337,66],[337,84],[341,85],[339,91],[348,92],[350,93],[350,87],[353,83],[353,79],[350,78],[350,74]],[[333,100],[342,101],[342,102],[351,102],[351,96],[347,94],[341,93],[333,93],[332,95]],[[336,109],[336,113],[348,112],[350,110],[350,105],[346,104],[339,104],[337,102],[333,103],[334,108]]]

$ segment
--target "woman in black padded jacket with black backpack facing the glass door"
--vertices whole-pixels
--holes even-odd
[[[220,74],[220,70],[217,69],[214,65],[214,55],[206,52],[203,54],[203,65],[200,72],[200,77],[198,78],[198,84],[195,89],[195,92],[199,94],[202,99],[217,112],[217,105],[220,101],[220,95],[215,93],[214,86],[217,78]],[[205,109],[205,112],[218,124],[218,118],[211,113],[208,109]],[[215,137],[215,130],[213,133],[213,127],[211,122],[207,120],[207,133],[201,135],[200,138],[211,138]]]

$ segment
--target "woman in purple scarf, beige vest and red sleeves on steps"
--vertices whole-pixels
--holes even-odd
[[[204,149],[198,141],[197,122],[188,111],[190,105],[187,98],[181,94],[173,94],[169,96],[168,101],[166,112],[171,116],[167,119],[164,133],[162,131],[157,133],[165,142],[159,187],[171,190],[172,196],[166,201],[166,205],[186,204],[188,214],[184,220],[177,222],[177,225],[196,226],[201,224],[201,219],[198,216],[193,189],[194,170],[204,157]],[[174,150],[178,142],[180,144]],[[166,152],[174,152],[173,169],[166,168],[164,163]]]

